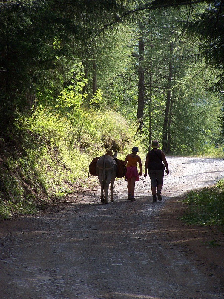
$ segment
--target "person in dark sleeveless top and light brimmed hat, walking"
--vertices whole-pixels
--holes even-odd
[[[164,152],[158,149],[159,146],[160,145],[158,144],[157,140],[152,141],[152,144],[150,145],[152,149],[148,152],[145,161],[144,177],[147,178],[147,170],[148,170],[148,175],[151,180],[152,202],[157,202],[157,198],[158,200],[162,200],[161,190],[163,185],[165,168],[166,168],[166,175],[169,174],[166,157],[164,155]],[[162,164],[162,161],[165,166]]]

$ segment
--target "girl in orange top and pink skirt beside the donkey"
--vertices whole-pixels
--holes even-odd
[[[132,153],[128,154],[125,158],[125,165],[127,164],[126,180],[128,182],[128,200],[134,202],[135,182],[139,181],[139,176],[142,176],[142,161],[137,155],[139,152],[138,147],[132,148]],[[137,164],[139,164],[140,171],[138,173]]]

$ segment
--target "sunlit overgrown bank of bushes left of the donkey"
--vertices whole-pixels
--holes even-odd
[[[7,156],[0,151],[2,218],[34,213],[49,197],[72,192],[76,184],[85,183],[93,157],[117,149],[122,159],[136,140],[136,127],[109,110],[79,107],[67,116],[39,106],[21,123],[23,137],[17,151]]]

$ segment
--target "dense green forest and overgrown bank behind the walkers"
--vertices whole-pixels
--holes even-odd
[[[0,0],[0,214],[106,149],[223,155],[223,45],[223,1]]]

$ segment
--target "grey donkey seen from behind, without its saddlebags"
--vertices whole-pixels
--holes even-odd
[[[97,160],[96,173],[101,186],[101,202],[108,203],[108,189],[111,182],[111,202],[113,202],[113,184],[117,174],[117,165],[115,159],[117,151],[114,155],[105,154]]]

